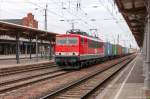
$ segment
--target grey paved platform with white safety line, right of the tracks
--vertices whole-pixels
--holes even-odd
[[[138,54],[96,99],[150,99],[144,89],[142,55]]]

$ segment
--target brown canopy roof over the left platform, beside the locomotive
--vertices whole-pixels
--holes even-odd
[[[35,35],[38,35],[39,39],[46,41],[55,40],[55,36],[58,34],[23,25],[0,21],[0,35],[15,37],[16,33],[20,33],[20,37],[26,39],[29,39],[30,36],[32,39],[35,39]]]

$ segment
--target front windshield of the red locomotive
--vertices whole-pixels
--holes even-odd
[[[57,45],[76,45],[78,42],[77,37],[57,37],[56,44]]]

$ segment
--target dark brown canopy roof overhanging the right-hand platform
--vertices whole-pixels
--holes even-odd
[[[145,0],[115,0],[115,2],[132,31],[137,44],[142,47],[147,15]]]

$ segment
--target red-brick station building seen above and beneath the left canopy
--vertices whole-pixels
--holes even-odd
[[[34,19],[32,13],[28,13],[26,17],[22,19],[1,19],[0,21],[28,26],[38,29],[38,21]],[[38,52],[41,56],[46,56],[49,53],[49,42],[38,40]],[[31,47],[31,53],[36,53],[36,41],[32,40],[30,45],[29,39],[20,38],[20,54],[29,54]],[[52,47],[52,53],[54,53],[54,46]],[[7,35],[0,35],[0,55],[15,55],[16,54],[16,39]]]

